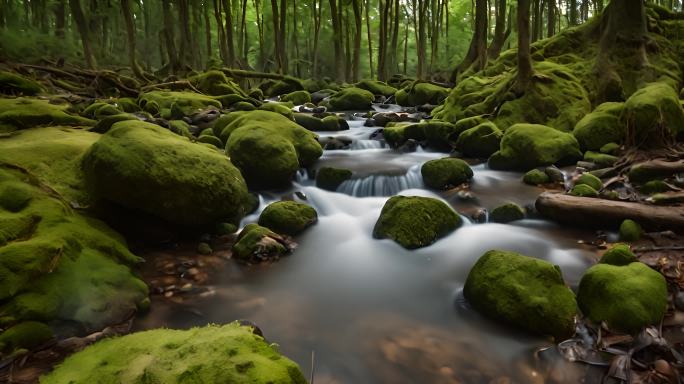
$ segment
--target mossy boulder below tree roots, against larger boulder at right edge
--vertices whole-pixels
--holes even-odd
[[[603,103],[577,122],[572,134],[583,149],[598,151],[608,143],[625,140],[625,126],[619,121],[622,103]]]

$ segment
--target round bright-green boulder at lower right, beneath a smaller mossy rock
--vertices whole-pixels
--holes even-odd
[[[636,333],[660,323],[667,308],[665,278],[643,263],[589,268],[580,281],[577,302],[584,316],[610,329]]]

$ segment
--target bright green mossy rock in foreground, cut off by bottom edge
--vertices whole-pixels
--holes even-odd
[[[69,356],[42,384],[305,384],[296,363],[238,323],[155,329],[101,340]]]

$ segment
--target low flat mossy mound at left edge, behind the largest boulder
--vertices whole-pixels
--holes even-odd
[[[67,113],[67,105],[51,104],[47,100],[20,97],[0,99],[0,133],[41,125],[88,126],[95,122]]]

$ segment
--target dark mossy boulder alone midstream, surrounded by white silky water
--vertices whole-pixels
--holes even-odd
[[[407,249],[426,247],[461,226],[461,217],[443,201],[394,196],[373,228],[376,239],[392,239]]]

